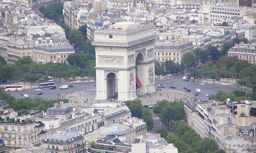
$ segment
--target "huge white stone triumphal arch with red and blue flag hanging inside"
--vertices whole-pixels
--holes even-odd
[[[96,100],[133,100],[155,91],[154,25],[119,22],[95,30]]]

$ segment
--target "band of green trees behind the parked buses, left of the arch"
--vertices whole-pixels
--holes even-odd
[[[30,81],[31,84],[33,84],[35,81],[47,81],[47,76],[59,78],[59,81],[61,81],[61,78],[68,81],[76,77],[93,77],[95,76],[95,62],[93,63],[92,61],[93,60],[88,60],[86,64],[87,67],[80,69],[75,64],[68,65],[66,63],[51,62],[45,64],[36,63],[32,61],[31,57],[24,56],[17,60],[15,65],[8,66],[5,62],[0,62],[0,68],[3,70],[2,73],[0,73],[0,80],[9,80],[8,83],[15,83],[16,80],[17,84],[19,84],[20,81]],[[38,74],[43,74],[44,76]]]

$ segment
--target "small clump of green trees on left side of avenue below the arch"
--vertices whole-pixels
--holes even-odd
[[[151,130],[154,127],[154,120],[152,114],[147,108],[143,108],[141,100],[128,100],[124,102],[125,105],[130,109],[132,117],[143,119],[146,122],[147,129]]]

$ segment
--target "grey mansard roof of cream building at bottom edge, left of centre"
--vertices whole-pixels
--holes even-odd
[[[54,145],[69,145],[83,140],[83,136],[76,131],[63,131],[59,134],[48,136],[42,140],[42,143],[54,144]]]

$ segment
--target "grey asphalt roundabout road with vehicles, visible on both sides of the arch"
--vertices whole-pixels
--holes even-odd
[[[183,89],[184,86],[188,86],[188,88],[191,89],[191,93],[194,94],[195,96],[195,89],[196,88],[200,88],[201,89],[201,93],[199,93],[198,96],[195,96],[194,98],[205,98],[205,94],[208,93],[209,96],[211,96],[212,94],[217,93],[217,91],[219,90],[223,90],[223,91],[227,91],[227,92],[231,92],[234,90],[235,88],[235,84],[232,84],[232,82],[230,84],[212,84],[212,81],[208,81],[208,83],[206,83],[204,80],[202,80],[202,82],[205,83],[205,86],[200,86],[200,80],[195,79],[195,82],[192,82],[192,80],[186,82],[183,81],[183,75],[181,76],[173,76],[172,78],[168,78],[168,79],[162,79],[162,80],[156,80],[156,85],[157,84],[165,84],[166,88],[170,88],[170,86],[176,86],[177,90],[180,91],[185,91],[185,89]],[[65,82],[63,83],[59,83],[59,82],[55,82],[56,83],[56,87],[57,89],[49,89],[49,88],[44,88],[42,89],[42,95],[37,95],[38,92],[40,91],[34,91],[35,88],[30,88],[30,85],[26,84],[26,88],[23,91],[9,91],[9,93],[12,96],[15,96],[15,98],[22,98],[22,96],[20,95],[21,93],[23,94],[27,94],[29,97],[34,98],[36,96],[44,98],[46,100],[51,100],[51,99],[57,99],[58,98],[58,94],[61,95],[64,93],[70,93],[70,92],[76,92],[76,91],[82,91],[82,90],[87,90],[87,89],[95,89],[96,87],[94,86],[96,84],[96,82],[93,83],[87,83],[87,82],[82,82],[80,84],[73,84],[74,87],[69,87],[68,89],[59,89],[59,87],[63,84],[65,84]],[[68,83],[67,83],[68,84]]]

